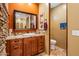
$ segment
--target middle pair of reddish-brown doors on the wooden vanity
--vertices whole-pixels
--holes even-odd
[[[37,38],[30,37],[24,39],[24,56],[37,54]]]

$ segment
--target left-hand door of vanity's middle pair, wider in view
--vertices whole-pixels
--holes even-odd
[[[32,55],[32,38],[24,39],[24,56]]]

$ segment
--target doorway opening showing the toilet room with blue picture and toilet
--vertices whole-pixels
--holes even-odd
[[[66,56],[67,52],[67,19],[66,4],[50,4],[50,55]]]

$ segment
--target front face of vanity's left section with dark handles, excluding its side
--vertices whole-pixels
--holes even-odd
[[[22,39],[11,40],[10,46],[11,56],[22,56]]]

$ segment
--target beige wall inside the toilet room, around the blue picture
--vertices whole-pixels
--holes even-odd
[[[66,22],[66,4],[51,9],[50,37],[57,41],[57,45],[66,48],[66,30],[60,30],[60,23]]]

